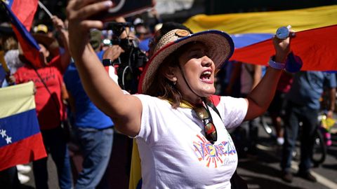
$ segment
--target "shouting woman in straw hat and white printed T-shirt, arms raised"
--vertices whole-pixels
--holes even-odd
[[[213,95],[216,69],[234,51],[223,31],[190,34],[173,29],[159,39],[140,77],[139,92],[125,94],[107,75],[88,43],[90,16],[111,1],[71,0],[67,6],[70,50],[88,97],[119,132],[136,138],[142,188],[231,188],[237,152],[227,128],[264,113],[290,52],[290,38],[273,38],[276,55],[246,98]]]

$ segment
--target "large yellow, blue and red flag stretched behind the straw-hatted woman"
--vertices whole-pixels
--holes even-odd
[[[277,28],[291,25],[296,37],[294,54],[303,60],[302,70],[336,71],[337,6],[298,10],[224,15],[195,15],[185,22],[192,31],[219,29],[231,34],[234,54],[231,60],[267,65],[275,53],[272,36]]]

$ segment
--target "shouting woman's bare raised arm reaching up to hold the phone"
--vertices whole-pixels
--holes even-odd
[[[112,1],[70,0],[67,6],[70,52],[81,83],[93,103],[114,121],[117,130],[136,136],[140,130],[142,104],[137,97],[124,94],[105,71],[88,41],[91,28],[103,29],[100,20],[89,17],[112,6]]]

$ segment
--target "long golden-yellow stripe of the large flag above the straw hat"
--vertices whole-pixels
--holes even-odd
[[[291,25],[295,31],[337,24],[337,5],[257,13],[195,15],[184,25],[193,32],[218,29],[228,34],[275,34],[278,27]]]

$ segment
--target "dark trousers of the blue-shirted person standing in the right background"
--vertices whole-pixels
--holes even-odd
[[[283,172],[291,171],[292,152],[298,138],[299,123],[302,122],[300,135],[300,165],[299,172],[308,172],[311,168],[311,156],[314,146],[314,134],[317,130],[319,110],[307,106],[298,106],[288,102],[284,119],[284,145],[281,161]]]

